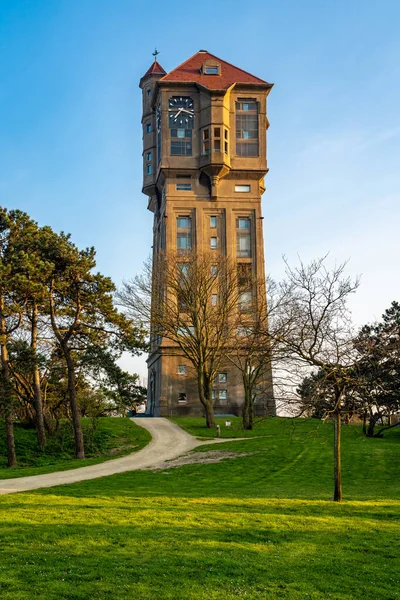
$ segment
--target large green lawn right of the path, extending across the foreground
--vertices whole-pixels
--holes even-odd
[[[330,423],[237,423],[198,451],[247,456],[0,497],[0,598],[399,599],[400,428],[344,427],[335,504]]]

